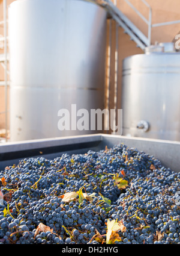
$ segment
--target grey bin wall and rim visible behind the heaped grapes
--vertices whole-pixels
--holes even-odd
[[[19,160],[23,158],[44,157],[53,159],[65,153],[70,155],[85,154],[89,150],[100,151],[106,146],[111,148],[119,143],[153,155],[161,161],[163,166],[180,172],[180,142],[101,133],[2,143],[0,146],[0,170],[11,164],[19,163]]]

